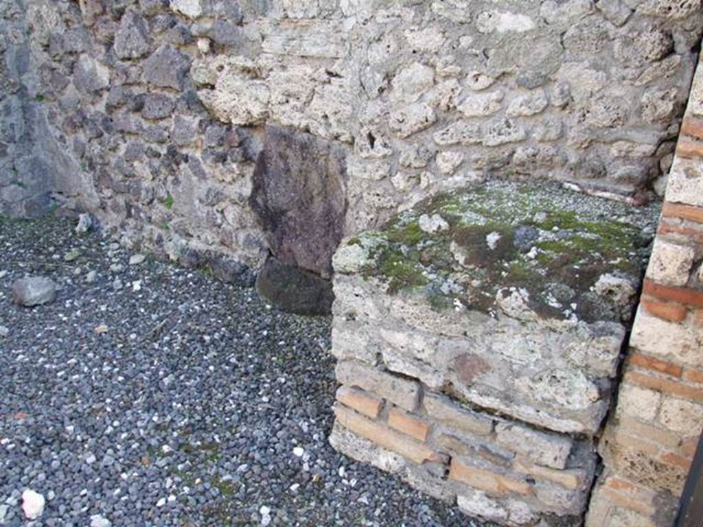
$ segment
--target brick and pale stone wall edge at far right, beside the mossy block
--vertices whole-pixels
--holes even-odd
[[[671,526],[703,429],[703,66],[698,65],[633,325],[599,445],[587,527]]]

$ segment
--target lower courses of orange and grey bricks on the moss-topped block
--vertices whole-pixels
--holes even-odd
[[[343,360],[336,373],[330,443],[342,453],[471,516],[516,526],[581,518],[595,469],[589,441],[470,410],[369,365]]]

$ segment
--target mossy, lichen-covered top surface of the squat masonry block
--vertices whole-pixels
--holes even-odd
[[[364,277],[436,309],[494,313],[520,289],[542,318],[626,320],[633,299],[595,284],[610,275],[634,294],[657,214],[656,204],[495,181],[429,198],[346,244],[364,255]],[[428,217],[449,227],[423,230]]]

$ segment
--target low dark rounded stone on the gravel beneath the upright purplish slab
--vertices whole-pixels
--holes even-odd
[[[274,306],[300,315],[332,312],[332,282],[269,256],[257,277],[257,291]]]

